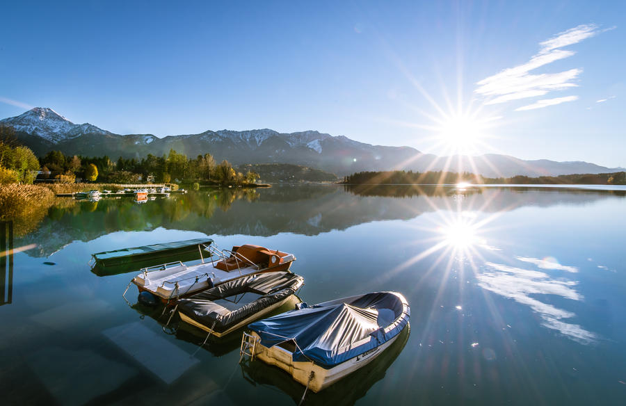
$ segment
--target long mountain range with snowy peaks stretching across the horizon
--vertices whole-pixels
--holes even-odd
[[[524,161],[513,156],[436,156],[412,147],[370,145],[345,136],[319,131],[279,133],[271,129],[248,131],[204,131],[198,134],[166,136],[120,135],[93,124],[74,124],[51,108],[35,107],[22,115],[0,120],[13,127],[17,140],[38,156],[52,150],[66,155],[119,156],[141,159],[147,154],[161,156],[170,149],[190,157],[209,152],[216,161],[243,163],[292,163],[333,172],[339,176],[364,170],[449,170],[473,172],[485,177],[515,175],[557,176],[559,174],[621,172],[583,161],[557,162],[547,159]]]

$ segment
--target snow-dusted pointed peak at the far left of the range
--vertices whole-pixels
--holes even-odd
[[[59,143],[86,133],[111,134],[109,131],[99,129],[93,124],[74,124],[63,117],[63,115],[47,107],[32,108],[17,117],[0,120],[0,123],[13,127],[15,131],[40,136],[52,143]]]

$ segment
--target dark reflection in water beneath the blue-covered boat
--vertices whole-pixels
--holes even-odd
[[[399,334],[398,339],[392,343],[374,361],[359,368],[354,373],[344,377],[336,384],[317,393],[307,391],[306,405],[354,405],[357,400],[364,397],[367,391],[382,380],[387,369],[400,355],[410,335],[410,323]],[[241,362],[243,377],[252,385],[271,385],[287,393],[296,403],[300,403],[305,387],[296,382],[289,373],[276,366],[270,366],[264,362],[253,360]]]

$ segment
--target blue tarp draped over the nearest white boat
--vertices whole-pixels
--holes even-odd
[[[248,325],[273,347],[293,340],[294,361],[330,368],[389,341],[408,324],[403,295],[375,292],[287,311]]]

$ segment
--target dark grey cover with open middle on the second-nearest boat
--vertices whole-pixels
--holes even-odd
[[[178,310],[196,322],[210,327],[211,330],[225,332],[252,314],[293,295],[303,282],[304,278],[300,275],[286,271],[249,275],[181,299],[178,301]],[[215,302],[244,293],[256,293],[261,296],[234,310]]]

